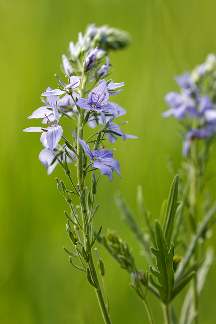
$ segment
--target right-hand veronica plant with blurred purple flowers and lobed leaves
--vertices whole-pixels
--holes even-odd
[[[131,274],[130,286],[145,304],[151,324],[154,319],[148,291],[160,300],[165,324],[198,323],[199,297],[213,260],[213,249],[205,249],[205,242],[212,235],[216,201],[211,203],[205,185],[212,176],[206,174],[206,169],[216,138],[216,56],[209,54],[192,73],[184,72],[175,79],[180,92],[165,96],[170,109],[162,116],[172,115],[180,123],[183,161],[182,167],[176,169],[172,159],[168,159],[175,177],[159,219],[153,223],[140,186],[137,209],[141,224],[121,195],[116,196],[122,218],[140,243],[149,271],[136,268],[132,250],[114,231],[108,230],[101,237],[108,253]],[[178,319],[172,302],[189,282]]]

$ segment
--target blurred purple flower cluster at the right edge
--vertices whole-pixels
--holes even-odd
[[[175,80],[180,93],[172,91],[165,96],[170,109],[162,116],[173,115],[184,124],[182,155],[187,156],[193,141],[209,141],[216,134],[216,56],[209,54],[203,64]]]

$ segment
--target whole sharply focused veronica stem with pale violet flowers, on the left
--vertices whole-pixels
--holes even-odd
[[[58,86],[56,89],[48,87],[42,93],[43,106],[28,117],[41,119],[43,125],[24,130],[42,133],[40,141],[44,148],[39,154],[39,160],[48,169],[47,173],[51,174],[60,164],[70,180],[71,188],[67,188],[62,180],[59,182],[56,178],[57,188],[70,206],[70,213],[65,211],[66,230],[74,251],[64,249],[70,255],[71,264],[86,273],[87,281],[95,289],[104,322],[107,324],[111,323],[111,319],[104,278],[105,265],[98,258],[97,267],[102,277],[106,302],[92,253],[102,226],[98,232],[94,231],[93,216],[99,206],[95,206],[95,195],[100,175],[106,175],[112,181],[112,173],[115,171],[121,178],[119,162],[113,158],[114,150],[105,148],[105,135],[111,144],[117,140],[117,136],[122,137],[123,141],[128,137],[137,138],[125,135],[119,125],[112,122],[114,118],[126,113],[121,106],[109,101],[109,96],[122,91],[124,83],[105,79],[113,72],[110,71],[108,52],[124,48],[128,43],[129,36],[126,32],[108,26],[97,27],[92,24],[87,27],[84,35],[80,32],[77,43],[69,44],[68,57],[64,54],[62,56],[61,69],[65,78],[62,80],[55,75],[59,81]],[[71,122],[71,126],[68,126],[72,135],[70,139],[64,136],[62,118],[68,118]],[[44,124],[49,126],[46,128]],[[89,138],[85,138],[85,127],[97,127],[97,130]],[[76,168],[77,179],[71,178],[69,163],[73,163]],[[91,181],[89,191],[85,187],[87,177]],[[79,201],[77,208],[72,204],[71,195]],[[79,213],[82,220],[79,219]],[[74,264],[74,258],[79,259],[80,265]]]

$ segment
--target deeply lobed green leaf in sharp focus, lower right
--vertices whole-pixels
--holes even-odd
[[[152,266],[150,266],[149,269],[151,273],[157,277],[159,284],[155,283],[151,274],[149,278],[151,284],[158,289],[163,303],[168,304],[171,300],[174,287],[174,244],[171,243],[171,248],[168,250],[164,231],[158,220],[155,221],[155,236],[158,249],[151,248],[151,251],[156,257],[158,272],[153,270]]]

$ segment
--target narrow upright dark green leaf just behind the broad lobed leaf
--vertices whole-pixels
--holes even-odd
[[[170,246],[170,243],[171,243],[174,219],[175,219],[177,207],[179,206],[179,203],[177,203],[178,182],[179,182],[179,175],[177,174],[171,184],[169,196],[168,196],[167,203],[166,203],[166,209],[165,209],[165,218],[164,218],[164,222],[163,222],[163,228],[164,228],[165,239],[166,239],[168,247]]]

